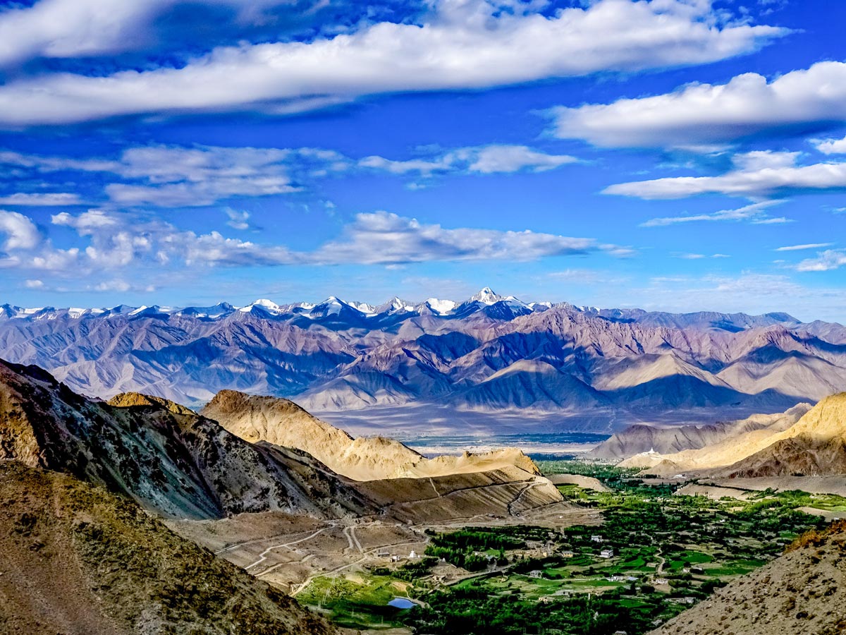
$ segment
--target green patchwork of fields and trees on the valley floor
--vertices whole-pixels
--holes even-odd
[[[317,578],[299,599],[330,610],[332,619],[347,627],[403,624],[431,635],[524,635],[552,629],[564,635],[618,630],[640,635],[687,608],[680,599],[706,598],[733,577],[780,555],[801,533],[826,524],[798,507],[846,507],[840,497],[801,492],[715,501],[675,495],[671,485],[650,487],[609,466],[547,461],[543,467],[568,465],[613,489],[559,488],[574,504],[601,510],[601,527],[429,532],[429,557],[411,568],[379,568],[346,590],[336,588],[337,581]],[[592,539],[596,535],[602,536],[599,542]],[[547,555],[538,556],[532,544],[543,544]],[[613,549],[613,557],[600,557],[602,549]],[[573,557],[564,557],[565,551]],[[438,558],[477,573],[452,586],[432,584],[427,567]],[[402,611],[386,607],[403,595],[400,580],[422,605]]]

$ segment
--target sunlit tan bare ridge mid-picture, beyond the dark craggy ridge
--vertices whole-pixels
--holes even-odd
[[[287,399],[222,390],[203,408],[202,415],[241,439],[303,450],[334,472],[357,481],[486,472],[507,466],[538,473],[529,457],[514,449],[430,460],[394,439],[354,439]]]

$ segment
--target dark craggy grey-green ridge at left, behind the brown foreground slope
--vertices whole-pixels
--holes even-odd
[[[0,459],[68,472],[164,516],[281,510],[325,517],[371,509],[303,452],[250,444],[157,400],[126,407],[88,400],[37,367],[5,362]]]

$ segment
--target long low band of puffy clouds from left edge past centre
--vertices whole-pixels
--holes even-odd
[[[602,244],[591,238],[496,229],[447,229],[387,212],[361,213],[347,224],[338,240],[313,251],[293,251],[228,238],[220,232],[197,234],[161,220],[143,221],[102,210],[58,213],[52,224],[73,229],[80,240],[58,248],[28,218],[13,212],[0,215],[0,232],[8,262],[21,270],[57,276],[118,272],[125,268],[268,267],[284,265],[381,264],[456,260],[531,261],[543,257],[584,255],[602,251],[625,257],[628,247]]]

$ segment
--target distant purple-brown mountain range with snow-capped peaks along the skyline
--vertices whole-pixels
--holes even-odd
[[[431,404],[520,411],[559,428],[590,417],[596,431],[783,411],[846,389],[840,324],[524,302],[489,288],[381,306],[4,305],[0,356],[102,398],[141,392],[201,406],[234,389],[318,414]]]

